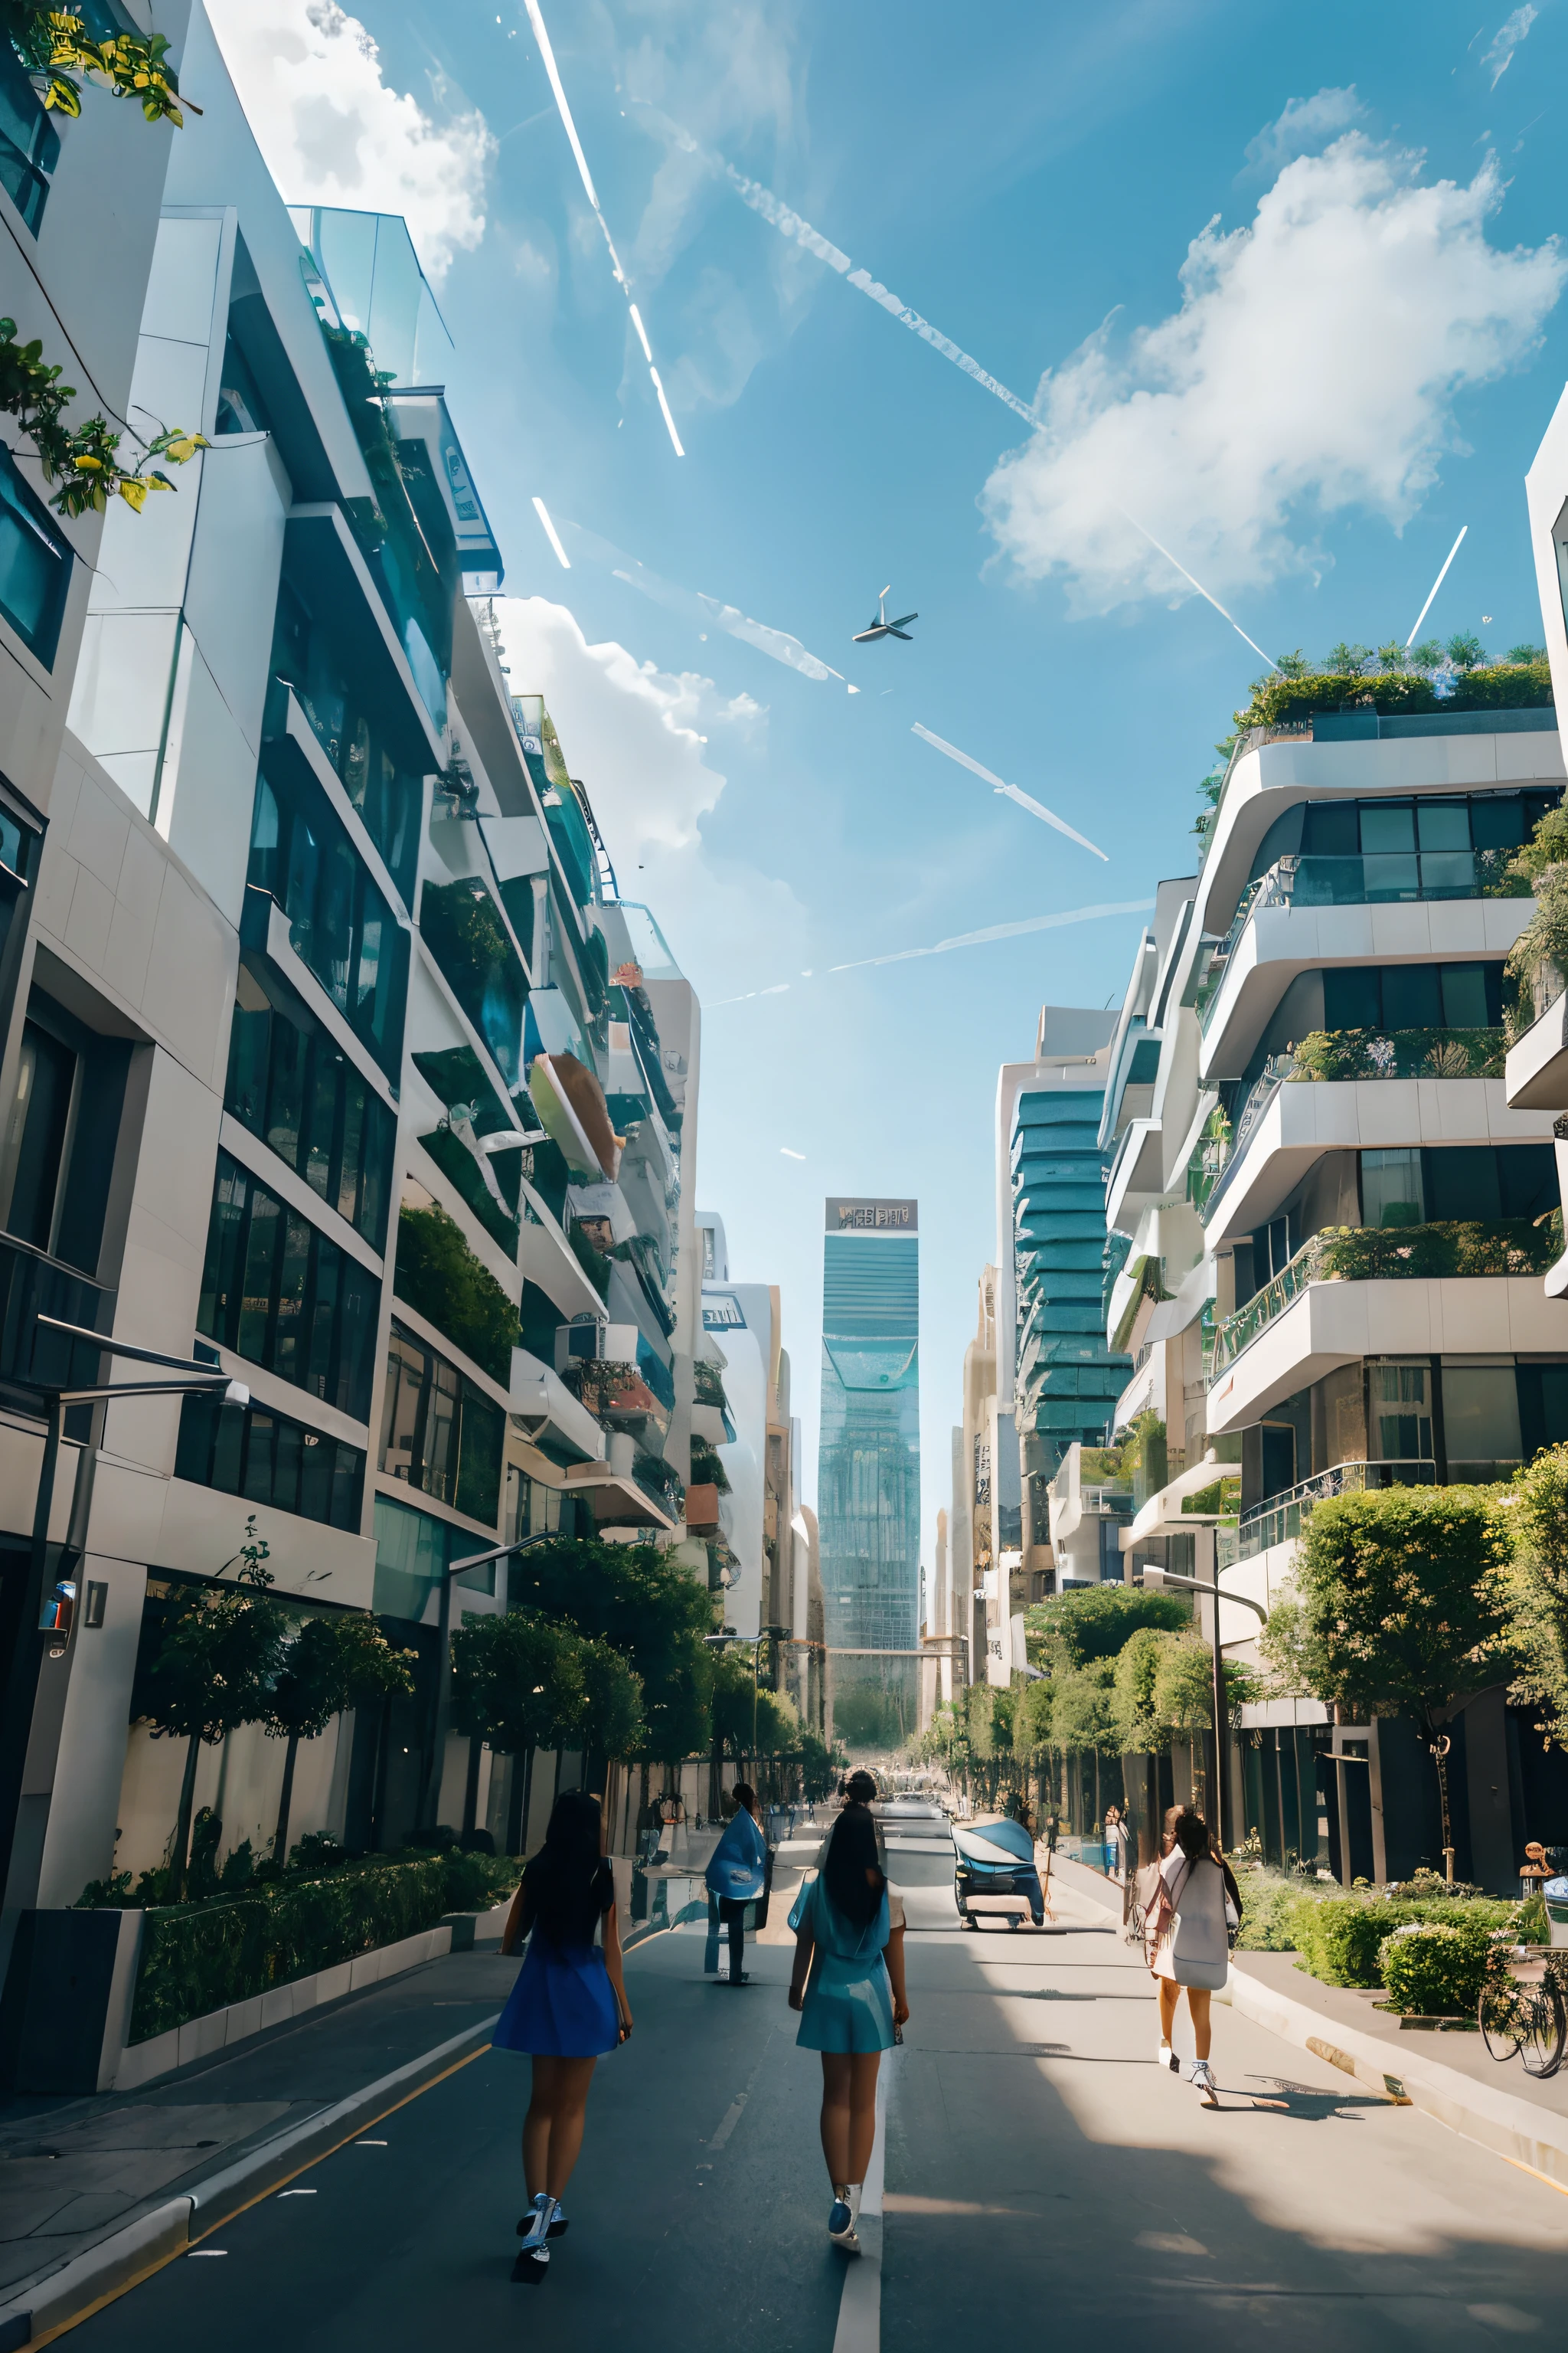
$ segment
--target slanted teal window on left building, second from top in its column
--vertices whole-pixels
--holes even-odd
[[[263,751],[266,760],[266,751]],[[409,944],[322,795],[299,776],[256,779],[249,880],[289,918],[289,946],[395,1071]]]

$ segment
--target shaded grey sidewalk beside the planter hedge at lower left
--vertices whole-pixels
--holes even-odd
[[[480,2042],[515,1974],[498,1944],[477,1944],[141,2092],[0,2101],[0,2346],[28,2341],[16,2315],[31,2292],[103,2240],[134,2240],[172,2202],[244,2174],[247,2160],[266,2167],[280,2139],[308,2134],[313,2120],[435,2049],[465,2035]],[[386,2104],[397,2097],[400,2087],[388,2089]],[[266,2179],[259,2169],[256,2188]],[[252,2193],[235,2184],[235,2205]]]

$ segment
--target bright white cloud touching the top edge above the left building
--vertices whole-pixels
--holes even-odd
[[[433,278],[480,242],[496,141],[477,108],[437,120],[388,89],[336,0],[207,0],[207,14],[287,202],[402,212]]]

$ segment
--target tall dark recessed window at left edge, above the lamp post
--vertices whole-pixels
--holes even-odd
[[[33,986],[0,1148],[0,1224],[96,1275],[132,1047]]]

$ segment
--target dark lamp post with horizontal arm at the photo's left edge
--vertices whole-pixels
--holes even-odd
[[[61,1322],[59,1315],[38,1315],[33,1329],[35,1334],[59,1332],[68,1341],[96,1348],[99,1355],[118,1355],[136,1365],[153,1365],[176,1374],[176,1379],[89,1381],[78,1386],[68,1386],[66,1381],[19,1384],[24,1388],[33,1388],[42,1398],[45,1459],[33,1504],[33,1546],[28,1558],[28,1581],[21,1593],[21,1612],[16,1619],[16,1649],[12,1652],[12,1668],[5,1682],[5,1706],[0,1708],[0,1892],[5,1892],[12,1857],[16,1852],[21,1779],[26,1769],[28,1739],[33,1734],[38,1678],[42,1673],[40,1635],[54,1638],[49,1642],[49,1654],[59,1657],[71,1640],[71,1626],[75,1619],[75,1581],[63,1574],[56,1577],[59,1593],[54,1609],[45,1612],[45,1586],[49,1581],[49,1515],[54,1511],[54,1480],[59,1473],[59,1445],[66,1407],[101,1405],[120,1398],[197,1398],[219,1393],[228,1405],[249,1405],[249,1388],[242,1381],[230,1381],[219,1365],[200,1365],[188,1355],[165,1355],[158,1348],[134,1348],[129,1341],[108,1339],[103,1332],[89,1332],[85,1325]],[[94,1438],[78,1454],[71,1529],[61,1551],[61,1569],[71,1553],[85,1551],[87,1546],[87,1508],[92,1499],[96,1452]]]

